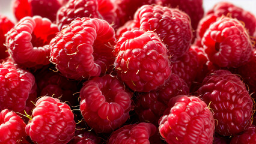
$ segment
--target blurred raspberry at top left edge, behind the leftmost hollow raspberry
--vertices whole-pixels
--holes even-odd
[[[56,21],[56,13],[61,7],[59,0],[14,0],[13,13],[17,20],[26,16],[41,16]]]

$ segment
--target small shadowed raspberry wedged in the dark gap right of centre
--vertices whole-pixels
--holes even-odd
[[[172,61],[172,73],[183,79],[187,86],[191,86],[198,73],[198,53],[194,49],[189,49],[183,56]]]

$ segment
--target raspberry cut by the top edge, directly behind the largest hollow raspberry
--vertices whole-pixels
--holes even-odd
[[[59,30],[67,27],[76,17],[91,17],[103,19],[98,10],[97,0],[70,0],[59,8],[56,23]]]

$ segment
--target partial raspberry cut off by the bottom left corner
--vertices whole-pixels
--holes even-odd
[[[26,124],[16,113],[7,109],[0,112],[0,143],[22,143]]]

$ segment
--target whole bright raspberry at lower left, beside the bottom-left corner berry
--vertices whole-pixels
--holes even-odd
[[[40,143],[68,143],[75,134],[76,123],[70,107],[52,97],[41,97],[35,103],[26,134]]]

